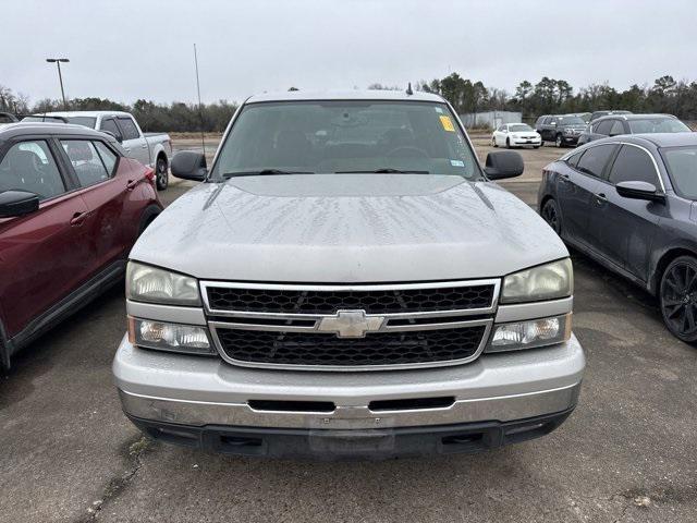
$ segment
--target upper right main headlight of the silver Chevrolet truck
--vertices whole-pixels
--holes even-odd
[[[501,303],[538,302],[571,296],[574,269],[570,258],[539,265],[503,279]]]

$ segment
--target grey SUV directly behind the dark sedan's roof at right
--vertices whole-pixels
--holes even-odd
[[[620,114],[599,118],[580,133],[578,145],[621,134],[692,133],[672,114]]]

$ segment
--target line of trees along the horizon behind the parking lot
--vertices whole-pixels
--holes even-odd
[[[375,83],[369,89],[402,89]],[[441,80],[419,81],[415,89],[437,93],[450,101],[457,113],[484,112],[489,110],[519,111],[524,118],[539,114],[567,112],[591,112],[600,109],[625,109],[633,112],[667,112],[683,120],[697,120],[697,82],[676,81],[672,76],[661,76],[652,85],[637,84],[619,90],[606,84],[591,84],[574,90],[564,80],[543,76],[539,82],[521,82],[510,94],[497,87],[487,87],[480,81],[464,78],[452,73]],[[289,90],[297,90],[291,87]],[[136,100],[133,105],[107,98],[73,98],[68,100],[68,109],[119,110],[132,112],[146,132],[222,132],[237,109],[237,104],[218,100],[212,104],[174,101],[156,104]],[[30,104],[23,94],[0,85],[0,111],[19,114],[41,113],[64,110],[57,99],[46,98]]]

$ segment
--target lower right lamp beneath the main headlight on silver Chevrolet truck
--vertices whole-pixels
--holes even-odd
[[[551,318],[501,324],[493,332],[485,352],[517,351],[562,343],[571,338],[571,314]]]

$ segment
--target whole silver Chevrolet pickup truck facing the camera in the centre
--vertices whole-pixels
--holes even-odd
[[[205,183],[131,253],[113,362],[152,438],[318,459],[473,452],[575,408],[584,352],[557,234],[430,94],[249,98]]]

